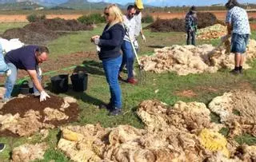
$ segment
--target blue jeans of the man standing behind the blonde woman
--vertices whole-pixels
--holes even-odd
[[[134,51],[133,47],[131,46],[131,42],[129,41],[122,41],[122,65],[120,67],[120,72],[122,71],[123,67],[126,65],[128,79],[134,77]]]

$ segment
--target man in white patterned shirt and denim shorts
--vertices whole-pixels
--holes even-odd
[[[233,74],[242,73],[244,53],[250,37],[250,23],[246,10],[242,9],[236,0],[226,3],[227,34],[231,36],[231,53],[234,53]]]

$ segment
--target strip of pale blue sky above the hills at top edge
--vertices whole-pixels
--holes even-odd
[[[120,4],[126,4],[128,2],[134,2],[134,0],[88,0],[89,2],[117,2]],[[226,3],[228,0],[143,0],[144,4],[152,6],[206,6],[218,3]],[[238,0],[240,3],[255,3],[256,0]]]

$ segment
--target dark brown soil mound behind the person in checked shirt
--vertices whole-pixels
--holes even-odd
[[[184,15],[185,18],[185,15]],[[213,26],[219,21],[212,13],[198,13],[198,29],[206,28],[207,26]],[[150,29],[153,32],[185,32],[185,19],[157,19],[155,22],[146,26],[146,29]]]

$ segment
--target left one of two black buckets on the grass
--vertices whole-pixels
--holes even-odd
[[[69,89],[69,75],[62,74],[50,78],[54,93],[66,93]]]

